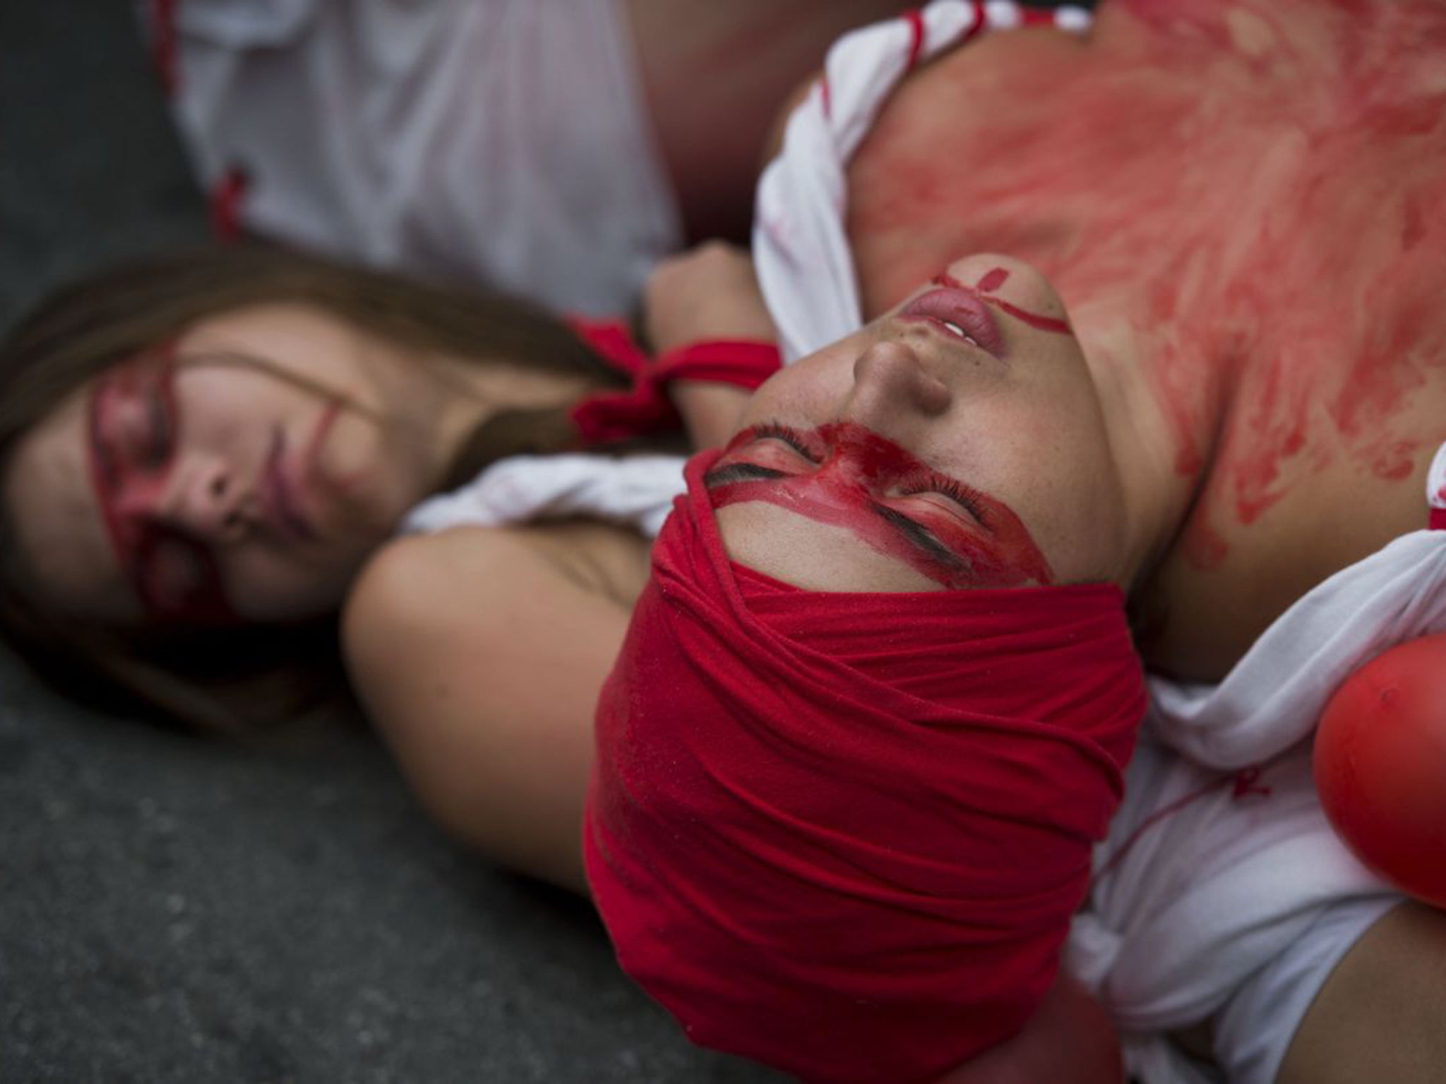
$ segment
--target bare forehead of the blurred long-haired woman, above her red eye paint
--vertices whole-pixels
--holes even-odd
[[[4,515],[35,594],[77,614],[139,617],[106,536],[87,457],[88,382],[16,445],[3,478]]]

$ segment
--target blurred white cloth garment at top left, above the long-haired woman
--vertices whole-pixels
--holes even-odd
[[[599,315],[681,243],[619,0],[179,0],[174,30],[192,163],[246,173],[260,233]]]

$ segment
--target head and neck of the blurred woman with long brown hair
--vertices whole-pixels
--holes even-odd
[[[71,689],[230,731],[335,697],[337,610],[419,500],[678,422],[620,324],[263,247],[100,273],[0,356],[7,639]]]

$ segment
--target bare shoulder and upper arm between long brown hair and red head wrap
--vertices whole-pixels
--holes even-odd
[[[645,552],[603,525],[403,538],[343,619],[353,684],[428,812],[576,892],[593,710]]]

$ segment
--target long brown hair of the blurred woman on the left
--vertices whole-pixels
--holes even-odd
[[[512,298],[419,283],[266,246],[149,257],[51,293],[0,343],[0,477],[26,432],[91,377],[247,305],[299,302],[416,351],[620,377],[561,321]],[[493,460],[576,439],[567,409],[500,409],[454,460],[447,484]],[[292,626],[124,633],[67,619],[27,590],[10,510],[0,507],[0,637],[51,684],[108,710],[256,733],[346,694],[335,616]],[[78,674],[77,668],[84,668]]]

